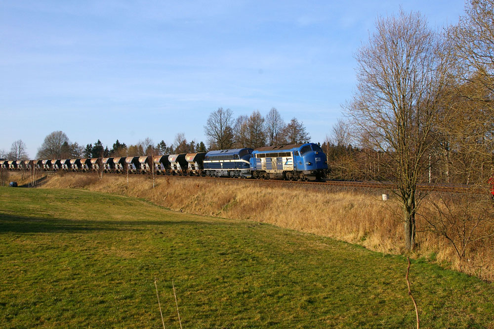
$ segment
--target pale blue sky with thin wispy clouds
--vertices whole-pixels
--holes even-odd
[[[235,116],[275,107],[323,142],[356,87],[354,53],[375,19],[419,11],[455,24],[459,0],[0,0],[0,149],[36,156],[61,130],[168,145],[205,141],[219,107]]]

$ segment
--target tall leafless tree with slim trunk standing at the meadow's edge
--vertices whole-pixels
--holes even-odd
[[[432,130],[446,84],[445,47],[423,16],[400,10],[378,18],[355,55],[358,86],[346,109],[363,146],[380,155],[380,170],[397,184],[407,249],[415,244],[417,183],[437,141]]]

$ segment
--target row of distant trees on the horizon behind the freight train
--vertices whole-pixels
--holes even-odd
[[[232,110],[224,110],[220,107],[209,114],[204,131],[207,136],[207,146],[204,141],[188,141],[184,133],[177,133],[170,145],[164,140],[154,144],[153,140],[146,138],[129,145],[116,140],[112,148],[104,146],[100,140],[83,147],[77,142],[71,142],[64,132],[54,131],[44,138],[36,158],[74,159],[197,153],[217,149],[302,143],[310,140],[310,135],[302,122],[292,118],[285,123],[274,107],[265,117],[256,110],[251,115],[240,115],[237,118],[234,118]],[[14,141],[10,152],[0,150],[0,158],[27,159],[26,144],[22,140]]]

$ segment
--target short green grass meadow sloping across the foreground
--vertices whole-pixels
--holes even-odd
[[[83,190],[0,188],[0,328],[414,328],[406,259]],[[412,262],[421,328],[493,328],[486,282]]]

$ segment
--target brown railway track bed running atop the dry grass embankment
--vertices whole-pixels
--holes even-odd
[[[71,172],[71,174],[78,175],[94,175],[94,172]],[[116,175],[116,176],[124,176],[124,174],[117,173],[104,173],[103,176],[106,175]],[[138,176],[152,176],[152,174],[131,174],[130,177],[138,177]],[[284,181],[284,180],[254,180],[254,179],[239,179],[239,178],[228,178],[228,177],[208,177],[208,176],[178,176],[178,175],[155,175],[157,178],[180,178],[180,179],[206,179],[206,180],[220,180],[220,181],[242,181],[242,182],[252,182],[252,183],[263,183],[269,182],[274,184],[302,184],[302,185],[319,185],[319,186],[335,186],[342,188],[374,188],[374,189],[396,189],[397,185],[392,182],[353,182],[353,181],[335,181],[335,180],[324,180],[318,182],[301,182],[301,181]],[[428,183],[419,183],[417,185],[418,190],[423,191],[445,191],[445,192],[455,192],[455,193],[481,193],[483,191],[479,191],[476,188],[473,188],[469,185],[460,185],[460,184],[428,184]]]

